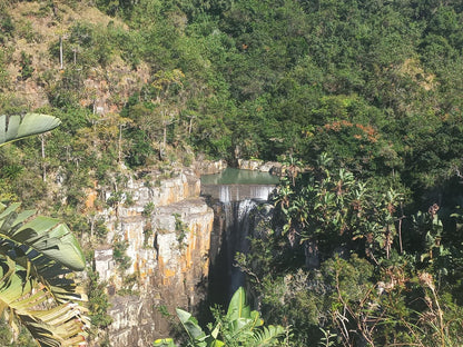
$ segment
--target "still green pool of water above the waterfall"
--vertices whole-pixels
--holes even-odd
[[[201,185],[277,185],[279,178],[268,172],[226,168],[220,174],[203,175]]]

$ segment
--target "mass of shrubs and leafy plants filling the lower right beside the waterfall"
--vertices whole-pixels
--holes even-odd
[[[461,306],[451,304],[460,275],[450,270],[461,236],[443,222],[449,211],[434,204],[406,216],[400,195],[334,162],[321,156],[308,172],[289,170],[276,229],[258,231],[237,258],[264,317],[292,325],[295,346],[461,344]]]

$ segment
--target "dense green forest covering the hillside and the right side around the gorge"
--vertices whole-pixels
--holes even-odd
[[[91,257],[96,182],[278,160],[237,258],[282,346],[462,345],[462,33],[460,0],[1,1],[0,113],[62,125],[2,148],[0,200],[91,221]]]

